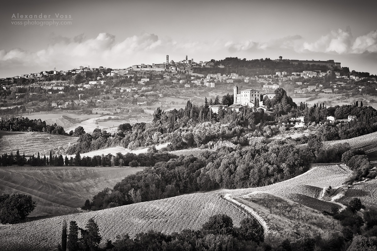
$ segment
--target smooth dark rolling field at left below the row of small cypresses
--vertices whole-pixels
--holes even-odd
[[[86,199],[142,168],[0,167],[0,194],[25,193],[37,202],[29,216],[78,212]],[[1,249],[0,249],[1,250]]]

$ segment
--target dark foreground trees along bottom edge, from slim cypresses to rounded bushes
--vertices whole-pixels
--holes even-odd
[[[138,233],[131,239],[128,235],[118,237],[114,242],[106,240],[100,248],[102,236],[97,223],[89,219],[86,228],[80,228],[77,222],[70,221],[67,235],[66,222],[63,223],[61,251],[126,251],[126,250],[251,250],[264,245],[264,229],[255,218],[246,217],[239,227],[225,214],[215,214],[199,230],[182,230],[179,233],[163,234],[154,230]],[[215,249],[213,249],[216,246]]]

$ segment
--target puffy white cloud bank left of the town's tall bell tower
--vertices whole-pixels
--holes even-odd
[[[99,33],[97,37],[89,39],[86,39],[84,34],[73,39],[54,36],[45,49],[36,52],[20,48],[0,50],[0,68],[30,68],[33,65],[46,69],[59,65],[66,69],[72,64],[111,64],[122,67],[123,62],[127,61],[125,59],[138,58],[138,61],[144,61],[143,56],[147,56],[147,53],[153,55],[159,47],[169,44],[172,44],[172,41],[163,41],[150,33],[141,33],[118,43],[110,33]]]

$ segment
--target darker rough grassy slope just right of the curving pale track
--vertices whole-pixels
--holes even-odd
[[[272,242],[294,240],[302,234],[323,234],[340,231],[340,223],[331,216],[305,205],[269,193],[253,193],[247,197],[233,198],[252,208],[266,223],[265,238]]]

